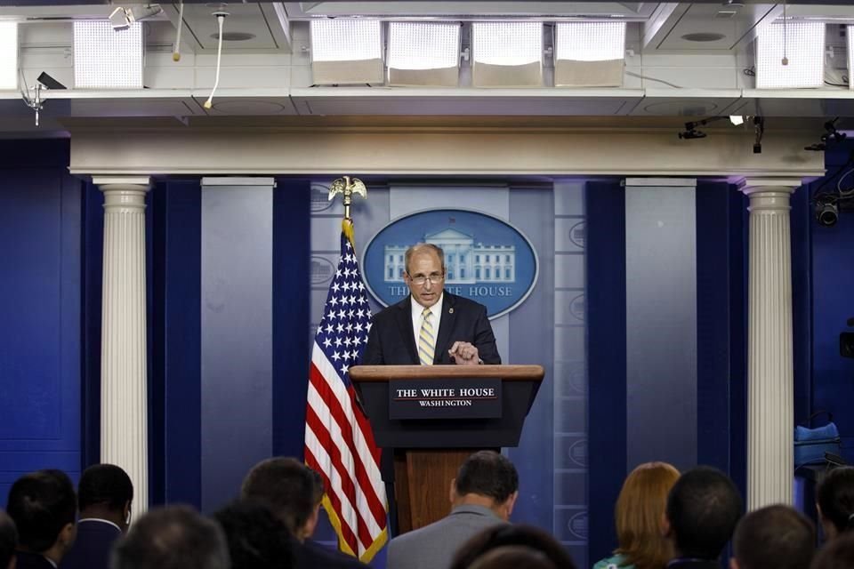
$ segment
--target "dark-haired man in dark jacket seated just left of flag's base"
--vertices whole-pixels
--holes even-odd
[[[364,569],[355,557],[310,540],[318,525],[323,481],[317,472],[292,458],[274,457],[256,464],[240,488],[246,501],[265,504],[294,537],[296,567]]]

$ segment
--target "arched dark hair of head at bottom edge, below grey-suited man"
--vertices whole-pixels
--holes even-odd
[[[472,535],[469,541],[457,549],[450,569],[471,569],[488,552],[495,549],[519,547],[542,554],[554,569],[576,569],[572,557],[552,535],[533,525],[493,525]],[[492,557],[487,557],[490,561]],[[497,563],[497,561],[496,561]],[[480,565],[477,565],[480,566]],[[487,565],[504,567],[510,565]],[[527,567],[528,565],[517,565]]]

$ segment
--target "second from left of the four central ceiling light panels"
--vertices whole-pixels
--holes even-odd
[[[455,87],[459,82],[457,22],[389,23],[389,84]]]

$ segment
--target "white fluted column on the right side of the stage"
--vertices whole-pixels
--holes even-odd
[[[793,503],[794,178],[745,180],[750,197],[747,343],[747,508]]]

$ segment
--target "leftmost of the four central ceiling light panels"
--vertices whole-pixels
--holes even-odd
[[[314,84],[383,83],[380,20],[311,20]]]

